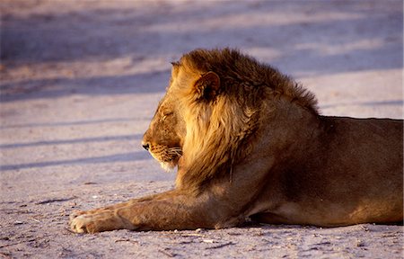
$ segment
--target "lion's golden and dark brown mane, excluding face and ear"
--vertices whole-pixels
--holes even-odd
[[[187,84],[180,86],[178,97],[185,107],[187,125],[183,152],[190,167],[188,174],[177,178],[178,184],[197,186],[219,174],[228,174],[232,181],[233,165],[249,155],[249,144],[259,118],[270,116],[260,112],[262,105],[269,105],[265,102],[268,98],[276,100],[283,95],[290,102],[317,113],[317,101],[312,93],[274,67],[263,65],[238,50],[196,49],[180,59],[180,66],[189,75],[215,72],[220,77],[220,89],[214,100],[201,102],[194,88]]]

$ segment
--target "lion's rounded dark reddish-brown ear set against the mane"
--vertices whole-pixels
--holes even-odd
[[[198,98],[210,101],[215,98],[220,88],[220,78],[215,72],[207,72],[200,76],[195,83],[195,91],[198,94]]]

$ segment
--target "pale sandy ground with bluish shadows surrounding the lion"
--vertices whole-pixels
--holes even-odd
[[[403,227],[76,235],[72,210],[172,187],[140,147],[170,61],[237,47],[322,114],[403,117],[402,1],[0,2],[0,257],[402,258]]]

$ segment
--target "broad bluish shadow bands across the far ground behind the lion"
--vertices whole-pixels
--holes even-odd
[[[389,2],[396,11],[378,2],[134,2],[128,8],[84,3],[81,9],[57,4],[58,13],[2,13],[4,67],[110,58],[131,58],[128,66],[136,67],[145,59],[175,59],[198,47],[231,46],[262,54],[260,59],[292,75],[402,68],[400,1]],[[159,71],[132,75],[5,80],[1,101],[162,92],[169,77],[166,61]],[[149,84],[137,84],[142,81]]]

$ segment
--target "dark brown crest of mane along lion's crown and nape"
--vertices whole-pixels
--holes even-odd
[[[293,103],[317,113],[317,100],[311,92],[291,77],[281,74],[275,67],[259,63],[255,58],[237,49],[195,49],[181,58],[181,63],[197,69],[201,74],[213,71],[220,76],[223,90],[227,93],[234,85],[243,87],[268,87],[273,94],[285,96]]]

